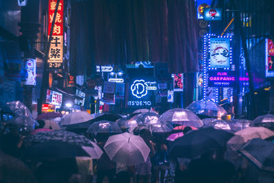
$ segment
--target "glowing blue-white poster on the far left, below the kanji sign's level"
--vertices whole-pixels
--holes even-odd
[[[22,85],[36,85],[36,59],[25,58],[21,70]]]

